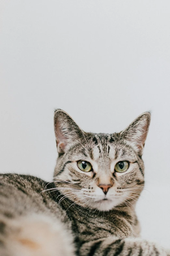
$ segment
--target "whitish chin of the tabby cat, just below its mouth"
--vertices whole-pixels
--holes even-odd
[[[120,204],[120,200],[99,200],[88,202],[88,207],[91,209],[97,209],[98,211],[109,211]]]

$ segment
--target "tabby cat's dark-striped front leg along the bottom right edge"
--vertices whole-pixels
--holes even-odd
[[[170,256],[163,247],[139,238],[120,239],[115,236],[84,243],[81,256]]]

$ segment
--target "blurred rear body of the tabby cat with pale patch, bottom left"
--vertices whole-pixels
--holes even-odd
[[[67,248],[72,255],[71,223],[45,186],[33,176],[0,174],[0,255],[67,255]]]

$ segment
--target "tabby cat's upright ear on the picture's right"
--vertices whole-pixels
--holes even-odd
[[[141,156],[147,138],[150,112],[145,112],[139,115],[126,129],[121,132],[121,135],[127,140]]]

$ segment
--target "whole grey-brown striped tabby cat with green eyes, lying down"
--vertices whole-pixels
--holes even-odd
[[[0,255],[170,255],[139,237],[135,214],[149,123],[145,112],[120,133],[95,134],[56,110],[53,181],[0,175]]]

